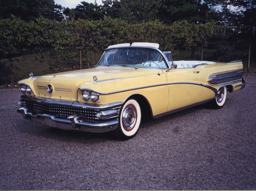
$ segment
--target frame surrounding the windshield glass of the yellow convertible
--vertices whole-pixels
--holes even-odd
[[[96,67],[109,67],[109,66],[112,66],[112,67],[133,67],[133,68],[140,68],[140,67],[136,67],[136,66],[132,66],[132,65],[127,65],[127,66],[124,66],[124,65],[99,65],[100,61],[103,59],[103,56],[105,55],[106,51],[108,50],[112,50],[112,49],[123,49],[123,48],[129,48],[129,49],[132,49],[132,48],[143,48],[143,49],[151,49],[151,50],[156,50],[158,53],[160,53],[160,55],[163,57],[163,62],[165,63],[166,67],[167,68],[145,68],[145,69],[161,69],[161,70],[166,70],[166,69],[169,69],[171,68],[171,66],[169,65],[169,62],[168,62],[168,59],[166,58],[165,54],[160,51],[158,48],[155,48],[155,47],[142,47],[142,46],[122,46],[122,47],[111,47],[111,48],[106,48],[102,54],[102,56],[100,57],[99,59],[99,62],[97,63]],[[144,68],[144,67],[143,67]]]

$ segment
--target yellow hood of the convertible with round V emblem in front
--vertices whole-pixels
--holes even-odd
[[[33,81],[33,85],[36,91],[36,97],[75,101],[77,99],[78,89],[90,89],[100,93],[113,92],[122,88],[129,89],[136,85],[145,84],[143,80],[138,80],[138,78],[148,77],[148,83],[146,82],[146,85],[152,83],[151,75],[156,76],[159,72],[161,70],[128,67],[97,67],[40,76]],[[97,78],[96,81],[93,79],[94,76]],[[107,85],[109,83],[112,84],[111,87]],[[48,93],[48,85],[52,86],[52,93]]]

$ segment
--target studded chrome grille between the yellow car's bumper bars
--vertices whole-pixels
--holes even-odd
[[[67,119],[69,115],[80,113],[84,116],[84,119],[88,122],[94,122],[96,118],[97,110],[82,107],[73,107],[68,105],[59,105],[52,103],[43,103],[35,100],[22,100],[24,104],[30,111],[34,114],[47,114],[53,115],[57,118]]]

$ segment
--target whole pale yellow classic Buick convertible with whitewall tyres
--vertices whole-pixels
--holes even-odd
[[[136,135],[144,116],[159,118],[198,104],[225,104],[245,87],[241,61],[173,61],[156,43],[109,46],[92,69],[30,76],[18,82],[17,110],[55,128]]]

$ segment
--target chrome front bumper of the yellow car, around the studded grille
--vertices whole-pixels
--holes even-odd
[[[24,96],[21,96],[22,100],[36,100],[40,102],[47,103],[49,100],[39,100],[37,98],[26,98]],[[22,101],[20,100],[20,101]],[[54,103],[54,100],[51,100],[51,103]],[[56,103],[59,104],[59,101],[56,101]],[[70,105],[70,103],[61,102],[62,105]],[[21,113],[23,118],[41,123],[42,125],[51,126],[54,128],[59,129],[65,129],[65,130],[79,130],[79,131],[85,131],[85,132],[108,132],[113,131],[117,128],[119,120],[118,120],[118,114],[119,109],[121,107],[120,103],[114,103],[110,105],[104,105],[104,106],[88,106],[80,103],[71,103],[73,106],[77,108],[87,108],[91,107],[93,109],[97,109],[97,111],[103,111],[105,113],[112,113],[111,116],[107,116],[104,120],[96,120],[93,122],[85,121],[83,116],[80,113],[74,113],[72,115],[69,115],[66,119],[63,118],[57,118],[54,115],[48,115],[43,113],[34,113],[29,107],[27,106],[21,106],[17,112]],[[114,114],[113,114],[113,108],[115,108]]]

